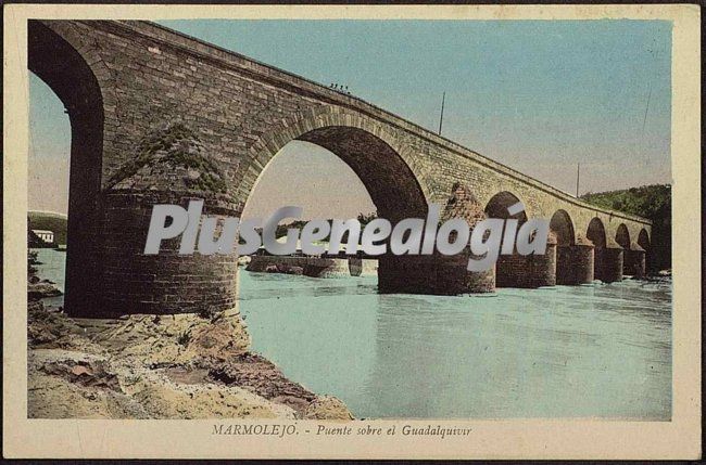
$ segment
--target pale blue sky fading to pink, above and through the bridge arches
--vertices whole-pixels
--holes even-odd
[[[570,193],[579,162],[581,193],[671,182],[669,22],[160,23],[324,85],[346,85],[431,130],[445,91],[444,137]],[[34,173],[41,178],[66,157],[68,124],[35,77],[30,93]],[[374,208],[331,154],[303,143],[285,152],[249,209],[299,203],[311,216],[340,217]],[[333,179],[313,179],[302,164]],[[282,176],[291,189],[277,182]],[[336,189],[342,182],[349,189]],[[30,193],[30,206],[40,197]]]

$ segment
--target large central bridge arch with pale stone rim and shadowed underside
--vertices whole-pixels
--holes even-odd
[[[294,140],[319,145],[344,162],[363,182],[379,217],[393,224],[405,218],[426,217],[427,192],[401,154],[398,141],[374,120],[340,109],[283,122],[264,135],[251,150],[254,156],[236,184],[236,195],[249,198],[267,165]],[[440,292],[431,277],[436,263],[427,261],[429,257],[379,256],[378,288],[386,293]],[[420,273],[419,268],[427,273]]]

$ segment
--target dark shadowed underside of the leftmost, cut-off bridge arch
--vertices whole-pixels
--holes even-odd
[[[103,167],[104,99],[97,73],[104,69],[94,56],[86,55],[71,30],[58,34],[39,21],[28,22],[27,47],[27,67],[61,100],[71,122],[64,305],[68,312],[76,313],[90,308],[92,290],[100,280],[96,237],[100,227],[97,210]]]

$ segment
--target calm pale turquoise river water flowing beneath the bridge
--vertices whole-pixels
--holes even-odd
[[[59,273],[55,255],[40,260]],[[253,350],[358,418],[671,416],[670,281],[472,297],[379,295],[376,283],[241,269]]]

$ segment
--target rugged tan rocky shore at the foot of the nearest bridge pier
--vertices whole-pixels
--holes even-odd
[[[72,319],[33,298],[27,330],[30,418],[353,418],[250,352],[236,311]]]

